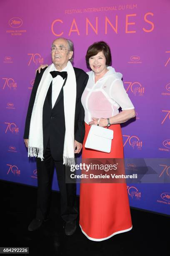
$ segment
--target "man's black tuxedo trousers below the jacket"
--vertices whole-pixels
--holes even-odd
[[[44,159],[37,161],[37,214],[36,218],[49,218],[50,197],[54,166],[57,172],[57,181],[60,189],[61,217],[64,221],[77,218],[76,184],[65,183],[65,165],[62,161],[54,161],[50,151],[50,140],[45,150]]]

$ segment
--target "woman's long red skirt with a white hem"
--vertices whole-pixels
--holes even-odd
[[[111,152],[103,153],[85,148],[90,125],[85,123],[82,159],[123,158],[120,124],[111,125],[114,138]],[[125,183],[80,184],[80,228],[87,238],[102,241],[132,229],[127,186]]]

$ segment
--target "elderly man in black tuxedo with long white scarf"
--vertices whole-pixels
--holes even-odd
[[[65,183],[65,165],[82,149],[85,134],[81,95],[88,75],[72,67],[73,43],[57,38],[52,43],[52,64],[36,73],[25,122],[28,156],[37,162],[37,212],[28,230],[36,230],[49,218],[54,166],[61,195],[65,234],[76,230],[76,184]]]

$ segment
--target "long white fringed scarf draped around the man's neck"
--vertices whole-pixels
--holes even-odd
[[[50,71],[55,70],[52,63],[42,75],[37,89],[32,115],[30,120],[30,132],[28,140],[28,156],[40,157],[43,161],[43,131],[42,110],[52,81]],[[75,164],[74,161],[74,123],[75,123],[75,100],[76,100],[76,78],[70,61],[67,63],[67,80],[63,87],[64,115],[65,115],[65,139],[63,151],[63,164]]]

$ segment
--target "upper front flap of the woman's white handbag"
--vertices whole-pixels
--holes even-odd
[[[113,130],[101,126],[92,125],[90,128],[90,133],[103,138],[108,138],[110,140],[113,139]]]

